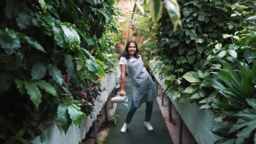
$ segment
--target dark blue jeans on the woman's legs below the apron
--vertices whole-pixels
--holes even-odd
[[[132,97],[132,96],[131,96]],[[152,115],[152,109],[153,109],[153,101],[146,102],[146,115],[145,115],[145,121],[149,122]],[[134,105],[133,98],[131,99],[131,107],[128,110],[128,113],[126,115],[125,123],[130,123],[131,119],[133,118],[134,113],[136,112],[137,108]]]

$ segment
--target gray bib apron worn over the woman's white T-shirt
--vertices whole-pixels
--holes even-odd
[[[139,57],[136,61],[127,59],[129,76],[132,82],[132,96],[136,108],[146,101],[154,101],[157,97],[155,83]]]

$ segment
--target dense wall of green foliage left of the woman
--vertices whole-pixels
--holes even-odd
[[[65,132],[86,120],[117,62],[114,4],[0,1],[0,143],[43,138],[48,120]]]

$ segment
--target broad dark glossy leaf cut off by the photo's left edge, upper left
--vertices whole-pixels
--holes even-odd
[[[0,45],[8,54],[13,53],[15,49],[21,47],[17,33],[11,29],[5,29],[5,31],[0,29]]]

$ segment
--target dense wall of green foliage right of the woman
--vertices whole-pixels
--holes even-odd
[[[253,143],[256,112],[256,1],[179,0],[182,28],[163,12],[157,34],[157,69],[168,96],[211,108],[213,132],[237,144]],[[253,62],[254,61],[254,62]],[[235,124],[234,124],[235,123]],[[255,143],[255,141],[254,141]]]

